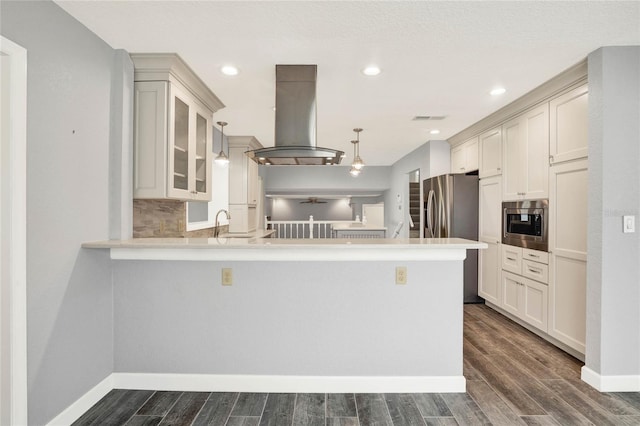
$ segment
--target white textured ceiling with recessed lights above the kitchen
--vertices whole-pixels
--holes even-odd
[[[225,133],[273,145],[276,64],[318,65],[318,145],[390,165],[448,139],[600,46],[640,44],[640,2],[57,3],[114,48],[176,52],[226,104]],[[375,63],[378,77],[361,69]],[[220,67],[234,64],[227,77]],[[506,94],[492,98],[495,86]],[[416,115],[445,115],[416,122]],[[429,131],[437,128],[440,135]]]

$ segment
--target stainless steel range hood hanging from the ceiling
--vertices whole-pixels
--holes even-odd
[[[273,148],[247,151],[258,164],[339,164],[343,151],[316,146],[317,65],[276,65]]]

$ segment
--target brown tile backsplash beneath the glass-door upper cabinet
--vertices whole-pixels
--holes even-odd
[[[133,238],[213,237],[214,227],[187,231],[186,218],[184,201],[133,200]]]

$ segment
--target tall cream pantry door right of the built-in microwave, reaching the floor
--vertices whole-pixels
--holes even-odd
[[[584,354],[587,286],[587,160],[550,168],[549,334]]]

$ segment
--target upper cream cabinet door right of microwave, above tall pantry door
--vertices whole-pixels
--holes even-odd
[[[571,90],[549,102],[551,164],[587,156],[588,88]]]

